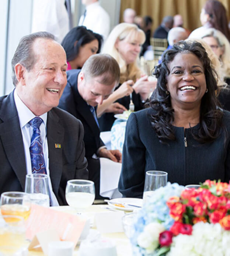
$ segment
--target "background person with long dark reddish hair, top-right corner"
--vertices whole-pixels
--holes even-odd
[[[200,20],[202,27],[196,28],[189,37],[199,38],[207,28],[216,28],[230,41],[228,18],[223,4],[217,0],[208,0],[201,10]]]

